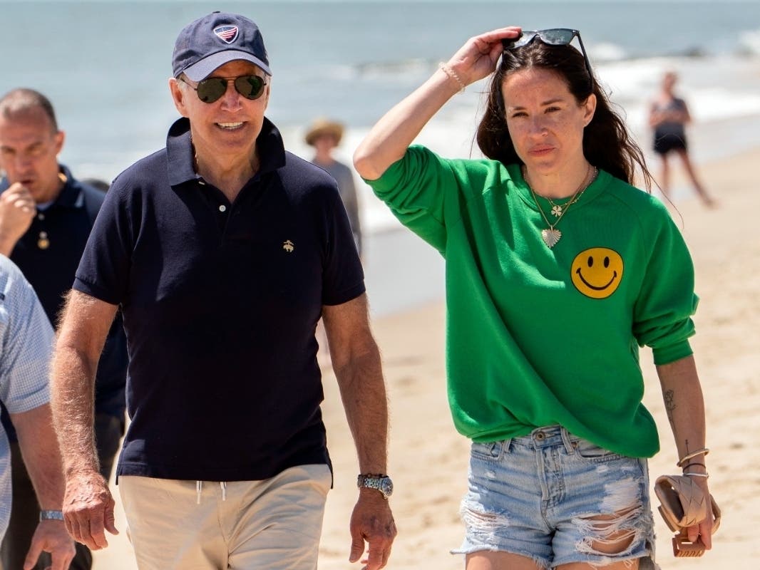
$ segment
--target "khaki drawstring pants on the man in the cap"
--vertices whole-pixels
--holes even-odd
[[[327,465],[291,467],[268,480],[119,477],[140,570],[315,570]]]

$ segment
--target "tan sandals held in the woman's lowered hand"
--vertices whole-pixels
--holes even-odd
[[[663,475],[654,483],[654,494],[660,499],[660,515],[665,523],[677,533],[673,537],[673,556],[702,556],[705,545],[701,540],[690,542],[686,529],[704,521],[708,516],[705,493],[702,492],[691,477],[685,475]],[[713,533],[720,527],[720,508],[710,496],[711,511],[714,518]]]

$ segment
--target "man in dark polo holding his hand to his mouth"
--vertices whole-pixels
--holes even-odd
[[[0,98],[0,253],[21,268],[54,326],[105,198],[58,163],[63,143],[52,104],[42,93],[15,89]],[[93,426],[100,473],[107,479],[125,423],[127,355],[120,319],[104,340]],[[2,422],[11,440],[13,508],[0,554],[2,568],[17,570],[24,565],[40,507],[5,410]],[[41,560],[35,568],[48,565]],[[91,566],[90,551],[78,544],[71,568]]]

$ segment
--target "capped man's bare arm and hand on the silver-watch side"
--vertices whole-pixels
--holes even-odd
[[[361,473],[387,473],[388,401],[380,353],[369,328],[366,295],[337,306],[325,306],[322,316],[333,370],[356,445]],[[388,500],[375,489],[360,489],[351,515],[350,562],[369,544],[367,570],[384,567],[391,554],[396,525]]]

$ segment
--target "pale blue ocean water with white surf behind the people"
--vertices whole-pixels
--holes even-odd
[[[339,156],[348,162],[366,130],[438,62],[468,37],[510,24],[581,30],[600,81],[647,151],[648,100],[670,69],[679,73],[695,119],[689,132],[695,160],[760,144],[760,2],[0,0],[0,93],[13,87],[46,93],[67,134],[62,162],[79,177],[112,179],[163,147],[177,117],[167,87],[174,40],[185,24],[213,10],[237,11],[261,27],[274,72],[268,116],[286,146],[306,158],[302,136],[315,117],[347,125]],[[454,97],[418,141],[448,156],[480,156],[473,132],[484,88],[475,84]],[[357,182],[373,310],[439,298],[439,256],[400,230]],[[401,270],[390,275],[394,264]]]

